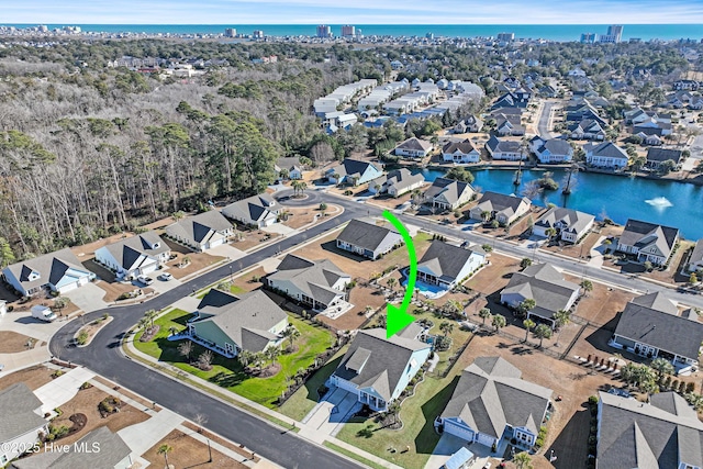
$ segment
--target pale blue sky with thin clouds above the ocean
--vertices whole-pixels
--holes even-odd
[[[703,0],[3,0],[0,24],[703,23]]]

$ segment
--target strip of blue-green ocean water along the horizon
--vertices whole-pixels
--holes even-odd
[[[5,26],[27,27],[35,24],[3,24]],[[235,27],[239,34],[252,34],[263,30],[270,36],[311,36],[315,35],[315,24],[47,24],[49,29],[80,26],[87,32],[107,33],[171,33],[171,34],[217,34],[225,27]],[[517,38],[544,38],[550,41],[579,41],[581,33],[605,34],[605,24],[356,24],[364,35],[389,36],[435,36],[476,37],[495,36],[498,33],[514,33]],[[339,35],[342,25],[331,25],[332,32]],[[658,38],[665,41],[703,38],[702,24],[625,24],[623,40],[638,37],[643,41]]]

